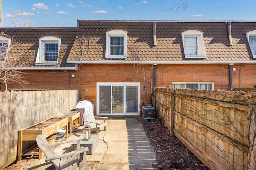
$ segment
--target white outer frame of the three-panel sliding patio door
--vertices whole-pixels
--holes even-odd
[[[140,113],[140,82],[135,82],[135,83],[131,83],[131,82],[97,82],[96,83],[97,87],[96,87],[96,100],[97,100],[97,106],[96,106],[96,114],[97,115],[110,115],[109,114],[100,114],[100,86],[138,86],[138,114]],[[112,89],[111,89],[112,90]],[[126,89],[124,89],[126,90]],[[126,94],[124,93],[124,100],[126,100]],[[111,103],[112,105],[112,103]],[[126,115],[129,115],[129,113],[126,113]],[[135,114],[132,114],[135,115]]]

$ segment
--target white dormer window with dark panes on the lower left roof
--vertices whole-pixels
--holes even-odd
[[[39,39],[36,64],[57,64],[61,39],[57,37],[43,37]]]

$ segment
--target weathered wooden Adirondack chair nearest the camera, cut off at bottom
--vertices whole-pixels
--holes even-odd
[[[89,149],[88,147],[81,149],[81,139],[83,139],[83,137],[50,145],[43,135],[38,135],[36,137],[36,143],[38,147],[42,150],[42,152],[44,152],[44,154],[46,155],[45,161],[50,160],[55,166],[56,170],[75,170],[76,168],[79,168],[79,170],[83,170],[83,165],[87,161],[86,151],[88,151]],[[52,147],[56,145],[61,145],[74,141],[77,141],[77,149],[74,151],[57,155],[52,149]]]

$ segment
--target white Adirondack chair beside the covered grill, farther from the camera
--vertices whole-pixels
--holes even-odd
[[[98,123],[95,121],[95,118],[104,119],[104,122]],[[90,110],[84,111],[84,121],[89,123],[91,127],[91,131],[96,131],[96,134],[98,134],[99,129],[102,127],[104,127],[104,131],[106,131],[106,125],[107,125],[106,119],[108,119],[108,117],[94,116],[93,112]]]

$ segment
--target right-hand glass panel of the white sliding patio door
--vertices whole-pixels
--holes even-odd
[[[126,112],[138,113],[138,86],[126,86]]]

